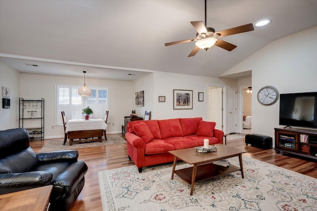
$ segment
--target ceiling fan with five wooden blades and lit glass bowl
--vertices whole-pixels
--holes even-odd
[[[207,26],[207,11],[206,11],[207,3],[206,3],[206,1],[207,0],[205,0],[205,24]],[[219,38],[254,30],[252,23],[249,23],[249,24],[246,24],[243,26],[234,27],[231,29],[222,30],[219,32],[215,32],[215,30],[211,27],[206,27],[204,25],[203,21],[191,21],[190,23],[193,25],[193,27],[197,31],[196,38],[189,39],[189,40],[183,40],[183,41],[165,43],[165,46],[169,46],[169,45],[180,44],[180,43],[184,43],[184,42],[197,41],[195,43],[196,46],[194,47],[192,52],[188,55],[188,57],[195,56],[196,53],[199,51],[199,49],[204,49],[207,51],[212,45],[216,45],[216,46],[221,47],[225,50],[231,51],[234,48],[236,48],[237,46],[234,44],[231,44],[229,42],[225,42],[223,40],[220,40]]]

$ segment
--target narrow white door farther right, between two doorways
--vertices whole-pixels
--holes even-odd
[[[237,87],[228,88],[228,133],[237,132]]]

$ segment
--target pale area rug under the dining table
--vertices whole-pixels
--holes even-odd
[[[69,140],[67,139],[67,142],[65,145],[64,138],[61,139],[54,139],[54,140],[47,140],[47,142],[44,147],[39,152],[51,152],[51,151],[58,151],[58,150],[72,150],[72,149],[79,149],[79,148],[87,148],[87,147],[97,147],[97,146],[105,146],[109,144],[119,144],[124,143],[126,144],[126,140],[121,138],[119,135],[109,135],[107,136],[107,141],[105,138],[103,138],[103,142],[94,141],[94,142],[86,142],[86,143],[79,143],[76,141],[73,141],[73,145],[69,146]]]

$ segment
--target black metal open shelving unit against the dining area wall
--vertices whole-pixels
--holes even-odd
[[[25,100],[20,97],[19,127],[28,130],[30,140],[44,139],[44,98]]]

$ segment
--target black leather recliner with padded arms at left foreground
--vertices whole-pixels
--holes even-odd
[[[85,184],[87,165],[78,151],[35,154],[24,128],[0,131],[0,195],[53,185],[52,211],[67,211]]]

